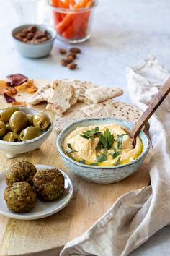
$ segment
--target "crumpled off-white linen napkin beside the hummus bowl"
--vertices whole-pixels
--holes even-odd
[[[131,101],[146,109],[148,103],[170,76],[155,56],[128,67]],[[125,256],[170,223],[170,98],[149,121],[153,155],[149,163],[151,185],[120,197],[94,226],[68,242],[61,256]]]

